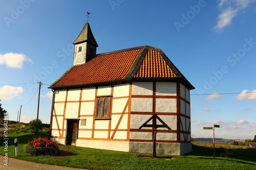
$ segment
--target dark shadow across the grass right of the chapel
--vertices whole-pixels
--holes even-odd
[[[193,146],[193,152],[190,155],[212,156],[212,157],[214,156],[213,148],[199,147],[194,144],[192,146]],[[240,159],[244,161],[256,162],[256,149],[254,148],[247,148],[247,149],[215,148],[215,156],[217,157],[217,159],[233,158],[233,159]],[[205,158],[202,158],[202,159],[205,159]]]

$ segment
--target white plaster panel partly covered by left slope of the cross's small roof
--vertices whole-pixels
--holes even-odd
[[[148,120],[151,117],[152,115],[131,114],[130,128],[139,129],[139,127],[143,125],[146,122],[146,120]],[[143,129],[152,129],[152,128],[143,128]]]

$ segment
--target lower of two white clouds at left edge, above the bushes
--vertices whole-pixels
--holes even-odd
[[[14,96],[18,96],[18,94],[22,94],[22,87],[13,87],[13,86],[3,86],[0,87],[0,100],[9,100]]]

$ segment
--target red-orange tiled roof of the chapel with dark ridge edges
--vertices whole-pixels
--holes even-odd
[[[95,83],[124,81],[142,78],[185,79],[175,65],[159,49],[140,46],[93,56],[84,64],[74,65],[50,88],[80,86]]]

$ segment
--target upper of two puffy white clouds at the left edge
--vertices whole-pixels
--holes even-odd
[[[23,68],[24,62],[33,63],[32,59],[22,53],[6,53],[0,54],[0,64],[6,64],[7,67],[11,68]]]

